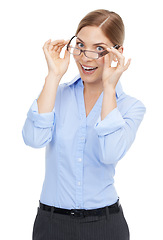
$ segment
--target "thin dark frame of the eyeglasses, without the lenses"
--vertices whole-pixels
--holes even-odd
[[[73,54],[73,53],[71,53],[71,52],[69,51],[70,43],[71,43],[72,39],[75,38],[75,37],[77,37],[77,36],[73,36],[73,37],[70,39],[69,43],[67,44],[67,51],[68,51],[70,54]],[[71,47],[71,48],[74,48],[74,47]],[[120,45],[116,44],[116,45],[113,46],[113,48],[119,49],[119,48],[120,48]],[[78,49],[78,50],[80,51],[80,53],[77,54],[77,55],[75,55],[75,54],[73,54],[73,55],[75,55],[75,56],[80,56],[81,53],[84,53],[84,55],[85,55],[87,58],[90,58],[90,59],[99,59],[100,57],[103,57],[103,56],[105,56],[106,54],[109,53],[107,50],[104,50],[103,52],[98,53],[98,52],[95,52],[95,51],[82,50],[82,49],[79,49],[79,48],[74,48],[74,49]],[[97,57],[97,58],[88,57],[88,56],[86,55],[87,52],[97,53],[97,54],[98,54],[98,57]]]

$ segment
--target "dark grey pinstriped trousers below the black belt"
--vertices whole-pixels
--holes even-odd
[[[73,217],[38,208],[33,240],[129,240],[122,206],[118,213]]]

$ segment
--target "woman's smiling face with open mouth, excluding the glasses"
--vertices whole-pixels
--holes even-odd
[[[102,30],[94,26],[84,27],[80,30],[77,34],[77,45],[80,49],[95,52],[103,52],[107,47],[113,47],[113,44],[103,34]],[[110,57],[112,61],[113,56]],[[84,82],[97,83],[102,80],[104,57],[90,59],[87,58],[84,53],[81,53],[79,56],[74,56],[74,59],[78,66],[81,79]]]

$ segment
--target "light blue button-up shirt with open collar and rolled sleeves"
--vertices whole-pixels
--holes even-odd
[[[66,209],[95,209],[114,204],[117,162],[135,139],[144,105],[116,86],[117,108],[101,121],[103,92],[86,117],[80,76],[60,84],[50,113],[38,113],[37,100],[23,127],[24,142],[46,146],[46,171],[40,201]]]

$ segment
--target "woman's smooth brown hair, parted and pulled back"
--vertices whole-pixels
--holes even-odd
[[[125,29],[122,18],[115,12],[99,9],[88,13],[79,23],[76,35],[86,26],[100,27],[103,33],[114,44],[123,45]]]

